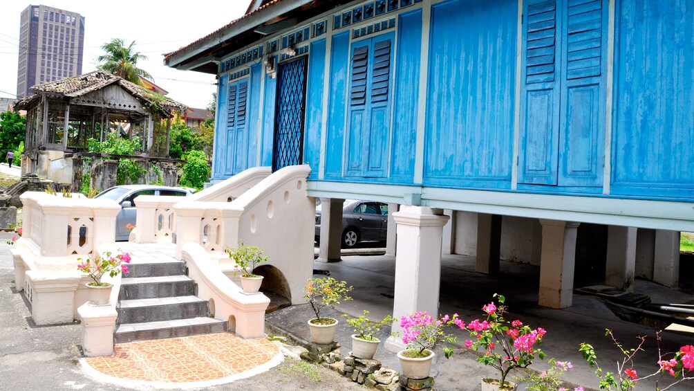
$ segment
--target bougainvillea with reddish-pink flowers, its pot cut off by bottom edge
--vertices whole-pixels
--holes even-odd
[[[527,368],[535,355],[541,360],[545,358],[545,353],[537,345],[541,344],[546,331],[541,327],[532,329],[518,319],[508,322],[504,319],[507,310],[505,297],[496,293],[494,297],[498,305],[492,301],[482,307],[486,320],[474,319],[467,326],[459,319],[455,321],[459,328],[469,331],[473,337],[465,341],[465,347],[484,351],[484,355],[477,357],[477,362],[499,371],[498,379],[482,379],[482,391],[515,390],[516,384],[507,381],[506,377],[512,369]]]

